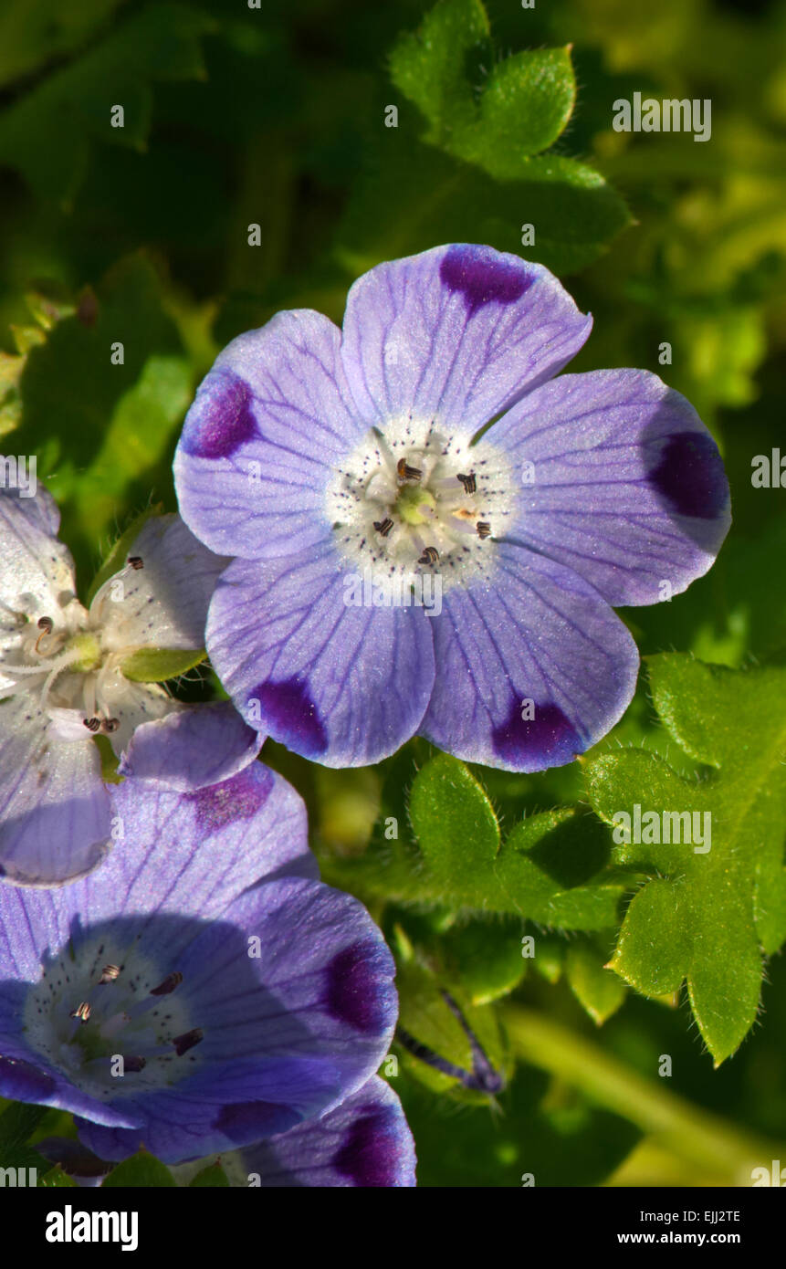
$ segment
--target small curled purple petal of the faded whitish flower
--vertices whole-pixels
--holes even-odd
[[[204,788],[253,763],[263,739],[229,700],[193,706],[137,727],[119,773],[180,792]]]

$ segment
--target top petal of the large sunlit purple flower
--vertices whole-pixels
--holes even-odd
[[[358,278],[342,358],[367,426],[409,415],[471,434],[556,374],[590,326],[541,264],[453,244]]]

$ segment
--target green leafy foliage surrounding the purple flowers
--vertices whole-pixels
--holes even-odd
[[[783,435],[785,41],[782,0],[0,10],[0,448],[37,454],[83,590],[151,499],[174,509],[229,339],[282,307],[340,321],[359,272],[438,242],[542,260],[594,315],[571,368],[660,372],[723,449],[731,534],[623,613],[640,689],[580,763],[467,770],[414,741],[333,772],[265,746],[396,952],[405,1030],[470,1070],[450,990],[505,1074],[490,1098],[395,1048],[422,1185],[744,1185],[786,1159],[786,492],[750,481]],[[711,99],[711,140],[612,131],[634,91]],[[711,853],[616,845],[635,802],[711,810]],[[53,1131],[8,1108],[4,1159]],[[192,1184],[226,1184],[206,1164]],[[137,1157],[112,1183],[173,1179]]]

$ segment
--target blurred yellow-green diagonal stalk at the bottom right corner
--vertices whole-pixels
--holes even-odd
[[[786,1143],[740,1132],[724,1119],[632,1071],[597,1044],[519,1005],[504,1022],[518,1058],[566,1080],[598,1105],[635,1123],[659,1146],[717,1178],[719,1184],[750,1185],[753,1167],[786,1161]]]

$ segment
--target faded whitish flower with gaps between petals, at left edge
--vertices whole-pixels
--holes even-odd
[[[221,722],[221,745],[204,747],[192,733],[203,707],[156,681],[202,659],[227,561],[179,516],[154,516],[85,608],[57,528],[44,490],[0,489],[0,877],[29,886],[85,874],[110,844],[98,737],[124,774],[164,774],[183,788],[225,779],[260,745],[221,703],[204,707]]]

